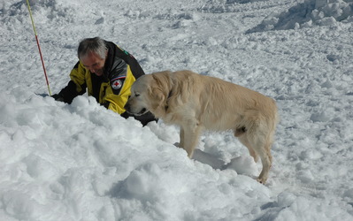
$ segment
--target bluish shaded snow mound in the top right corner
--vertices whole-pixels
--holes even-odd
[[[351,20],[352,0],[305,0],[287,11],[272,13],[249,33],[269,30],[288,30],[312,26],[330,26],[335,22]]]

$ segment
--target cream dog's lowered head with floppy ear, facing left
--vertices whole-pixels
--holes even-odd
[[[169,72],[143,75],[134,81],[131,95],[124,108],[136,116],[150,111],[157,118],[162,117],[170,89]]]

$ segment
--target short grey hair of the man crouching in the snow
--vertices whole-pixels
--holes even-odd
[[[82,57],[87,56],[89,52],[93,52],[102,59],[105,59],[107,50],[108,49],[105,46],[105,42],[102,38],[85,38],[79,44],[77,56],[79,59],[81,59]]]

